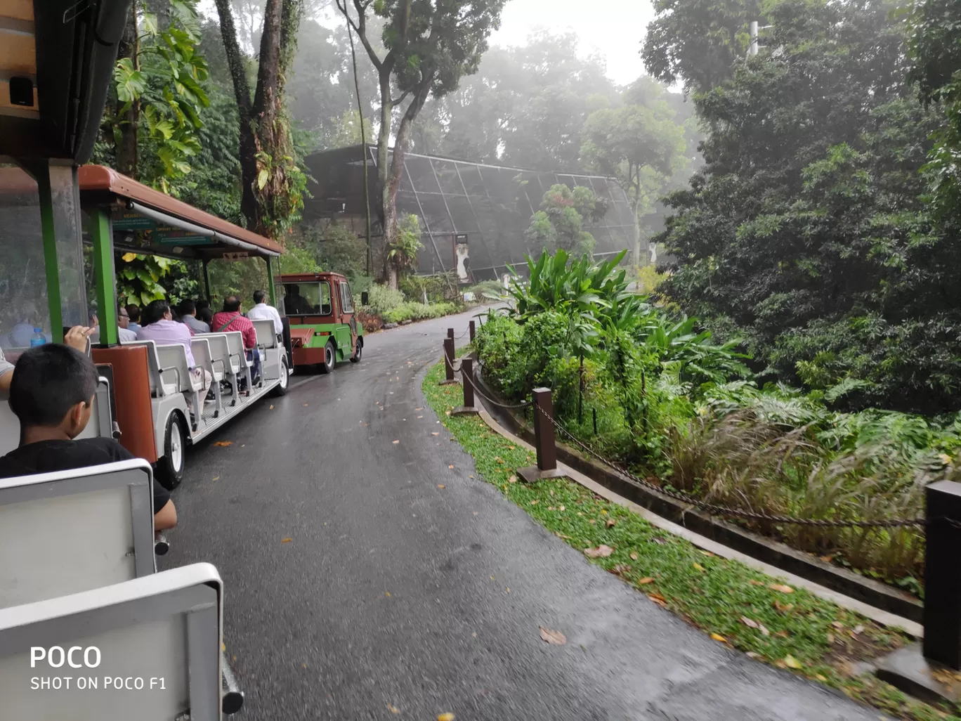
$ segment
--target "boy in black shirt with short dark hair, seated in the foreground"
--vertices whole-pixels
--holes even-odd
[[[113,438],[74,440],[90,420],[97,392],[97,369],[83,353],[59,343],[37,346],[25,351],[7,375],[12,375],[10,408],[20,419],[20,445],[0,458],[0,478],[134,458]],[[155,531],[177,525],[170,493],[156,481],[154,510]]]

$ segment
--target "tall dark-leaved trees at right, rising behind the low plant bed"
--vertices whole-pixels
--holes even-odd
[[[744,59],[747,10],[665,15],[655,25],[678,37],[645,50],[709,131],[704,167],[669,196],[660,239],[678,264],[661,290],[742,338],[765,378],[851,409],[958,410],[961,243],[921,172],[945,118],[908,82],[903,16],[884,0],[780,0],[751,16],[770,27]]]

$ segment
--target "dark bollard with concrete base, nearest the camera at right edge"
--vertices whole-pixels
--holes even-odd
[[[875,659],[875,675],[929,701],[961,699],[961,484],[924,489],[924,640]]]

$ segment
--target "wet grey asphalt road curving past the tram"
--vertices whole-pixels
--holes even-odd
[[[709,640],[468,478],[416,410],[468,319],[370,336],[361,363],[295,376],[188,457],[162,562],[220,570],[242,718],[878,718]]]

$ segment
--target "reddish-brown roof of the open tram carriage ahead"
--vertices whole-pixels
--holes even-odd
[[[79,170],[81,203],[108,205],[118,250],[210,260],[279,256],[283,247],[103,165]]]

